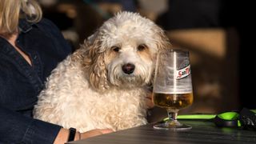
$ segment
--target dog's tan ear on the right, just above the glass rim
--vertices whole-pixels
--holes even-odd
[[[160,27],[156,26],[154,29],[156,30],[155,32],[155,40],[157,41],[157,46],[158,46],[158,51],[159,50],[166,50],[166,49],[171,49],[171,44],[169,38],[167,38],[164,30],[162,30]]]

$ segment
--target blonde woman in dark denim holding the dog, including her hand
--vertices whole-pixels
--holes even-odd
[[[33,119],[46,78],[71,48],[35,0],[0,0],[0,143],[65,143],[112,130],[79,133]],[[73,137],[73,138],[72,138]]]

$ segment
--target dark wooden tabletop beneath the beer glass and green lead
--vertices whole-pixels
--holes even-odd
[[[254,143],[256,131],[238,128],[219,128],[213,122],[187,120],[182,123],[193,126],[191,130],[154,130],[153,124],[120,130],[94,138],[70,142],[73,144],[116,144],[116,143]]]

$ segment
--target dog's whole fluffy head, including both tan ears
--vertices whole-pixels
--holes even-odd
[[[85,47],[95,88],[128,88],[151,82],[158,50],[170,48],[170,42],[154,22],[122,12],[106,21]]]

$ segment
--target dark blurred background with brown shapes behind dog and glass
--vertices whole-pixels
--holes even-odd
[[[190,50],[194,103],[179,114],[256,108],[255,8],[236,0],[38,0],[76,50],[120,10],[156,22],[175,48]],[[154,108],[150,121],[166,117]]]

